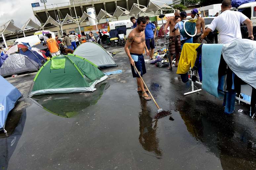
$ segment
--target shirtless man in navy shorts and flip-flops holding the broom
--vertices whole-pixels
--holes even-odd
[[[143,82],[136,70],[134,65],[140,72],[141,76],[146,73],[145,61],[143,57],[144,49],[146,49],[147,55],[149,55],[149,50],[145,43],[145,27],[147,26],[146,18],[144,16],[137,19],[137,26],[129,33],[127,41],[124,46],[124,50],[129,57],[132,75],[137,77],[138,92],[142,92],[142,97],[145,100],[151,100],[149,95],[144,89]]]

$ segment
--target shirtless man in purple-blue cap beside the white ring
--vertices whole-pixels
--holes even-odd
[[[204,19],[199,14],[200,12],[198,12],[197,9],[192,9],[191,17],[194,18],[195,15],[197,15],[196,35],[193,37],[193,43],[201,43],[201,39],[203,38],[203,33],[205,31]],[[201,32],[201,28],[202,28],[202,32]]]

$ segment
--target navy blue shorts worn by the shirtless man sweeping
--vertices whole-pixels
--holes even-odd
[[[134,60],[134,63],[135,63],[135,66],[136,66],[137,70],[140,72],[140,74],[142,76],[143,74],[145,74],[147,72],[143,54],[135,54],[135,53],[130,53],[130,54],[131,54],[131,56]],[[134,69],[134,67],[132,65],[131,65],[131,69],[132,69],[132,76],[133,77],[140,77],[139,74],[137,74],[137,71]]]

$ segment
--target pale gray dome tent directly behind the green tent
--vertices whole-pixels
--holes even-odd
[[[82,43],[73,54],[89,60],[100,68],[117,67],[112,55],[97,43]]]

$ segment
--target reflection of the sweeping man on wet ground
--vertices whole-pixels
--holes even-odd
[[[156,137],[157,120],[152,121],[153,118],[150,115],[151,111],[147,106],[147,101],[143,98],[140,98],[140,100],[142,112],[139,114],[139,142],[146,151],[162,156],[162,150],[159,149],[159,139]]]

